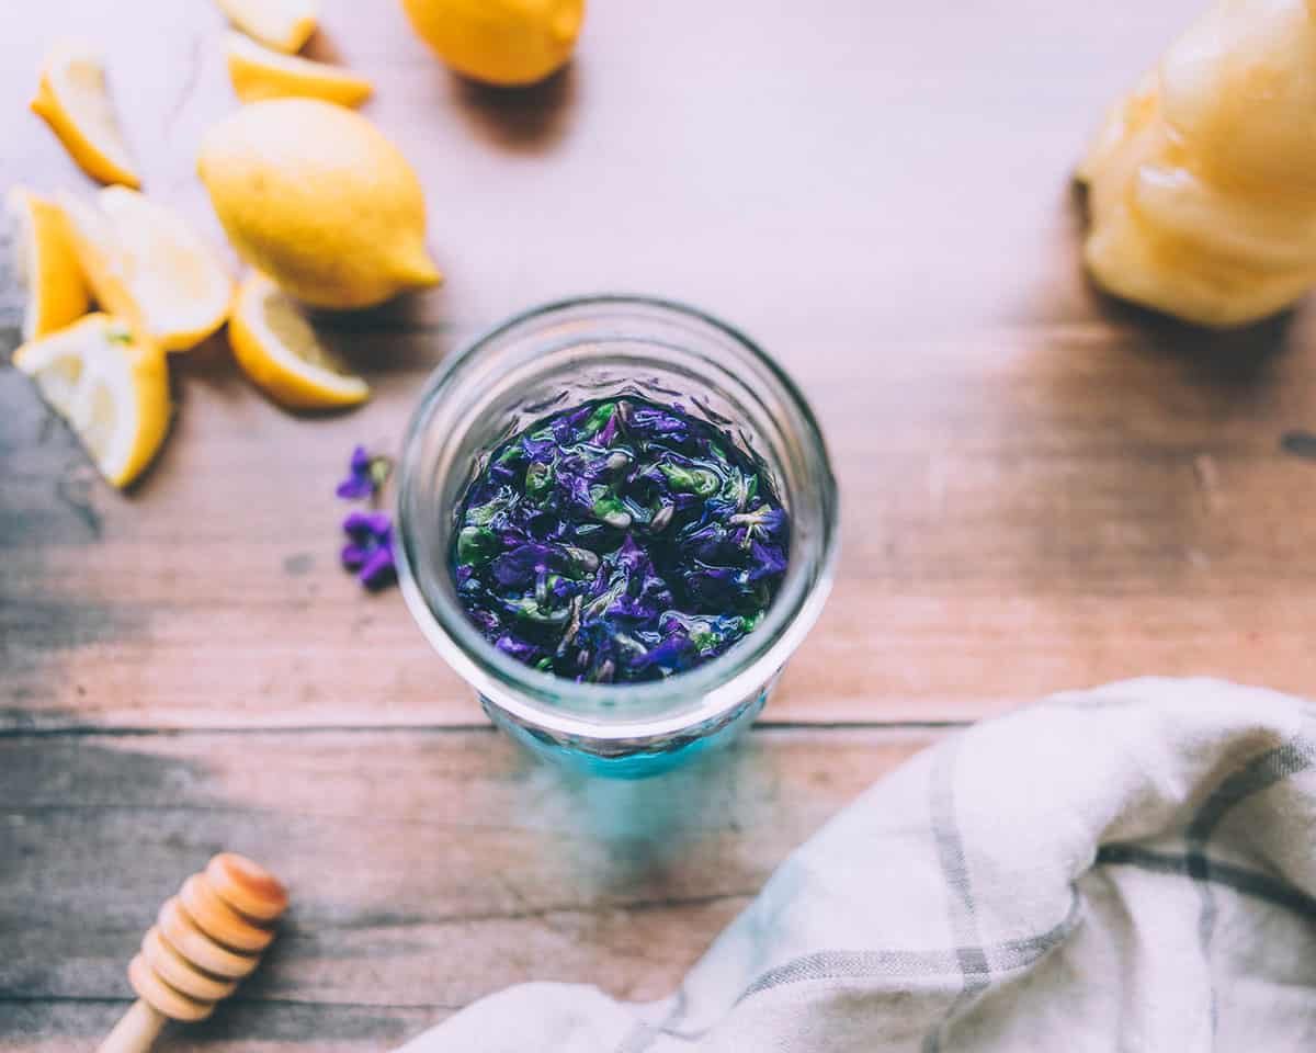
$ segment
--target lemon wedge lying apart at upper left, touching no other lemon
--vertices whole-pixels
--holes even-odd
[[[41,67],[32,112],[50,125],[92,179],[142,184],[109,101],[104,61],[95,49],[72,41],[57,43]]]

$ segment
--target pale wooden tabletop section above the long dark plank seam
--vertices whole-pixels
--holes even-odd
[[[0,371],[0,725],[478,720],[396,598],[338,574],[329,490],[454,346],[599,288],[742,324],[825,421],[841,580],[771,719],[974,717],[1148,671],[1316,692],[1316,465],[1280,451],[1316,428],[1309,313],[1209,337],[1095,297],[1078,265],[1070,165],[1195,8],[616,0],[567,75],[508,95],[449,78],[396,5],[326,3],[316,49],[378,79],[367,112],[421,171],[449,282],[333,322],[378,388],[355,415],[280,413],[222,341],[179,362],[176,432],[130,498]],[[192,151],[233,105],[216,12],[21,20],[0,183],[84,186],[17,105],[76,25],[150,190],[213,232]]]

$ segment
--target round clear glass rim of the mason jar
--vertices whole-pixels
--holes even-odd
[[[459,382],[463,366],[503,336],[536,320],[591,307],[657,311],[671,315],[674,320],[695,320],[730,337],[758,359],[803,424],[811,459],[817,462],[820,470],[816,483],[828,505],[822,515],[817,573],[807,583],[796,579],[799,595],[778,594],[755,630],[725,654],[662,681],[576,683],[517,662],[480,636],[457,602],[455,592],[453,596],[428,595],[413,569],[413,549],[420,541],[417,528],[422,529],[422,525],[411,521],[408,498],[412,488],[421,483],[416,465],[420,438],[437,400],[449,384]],[[605,741],[649,740],[715,720],[758,691],[786,663],[813,627],[830,591],[840,544],[838,495],[826,444],[808,401],[786,370],[749,336],[678,300],[632,294],[575,296],[529,308],[486,329],[465,347],[449,354],[426,380],[403,440],[397,478],[396,562],[399,584],[412,616],[430,645],[463,681],[532,728]],[[700,699],[700,703],[692,707],[688,704],[691,699]],[[608,703],[613,704],[612,708],[604,709]],[[628,719],[628,708],[650,716]],[[586,715],[604,712],[607,716],[599,719]]]

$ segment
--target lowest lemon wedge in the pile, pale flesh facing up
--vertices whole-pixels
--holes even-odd
[[[13,365],[78,434],[100,474],[128,486],[168,432],[164,353],[133,336],[128,322],[87,315],[58,333],[24,344]]]

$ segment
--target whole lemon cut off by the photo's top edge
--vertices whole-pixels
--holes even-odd
[[[575,46],[584,0],[403,0],[407,16],[457,72],[488,84],[533,84]]]

